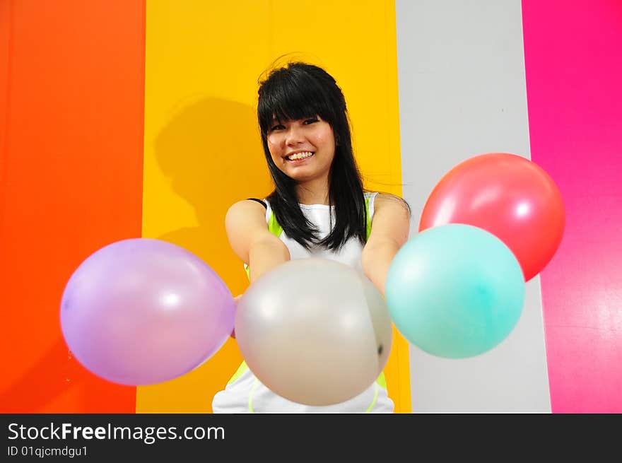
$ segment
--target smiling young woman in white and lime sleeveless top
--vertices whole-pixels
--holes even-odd
[[[275,189],[230,207],[228,239],[250,283],[288,261],[324,257],[352,266],[385,293],[389,265],[408,239],[410,209],[365,192],[353,156],[346,101],[324,69],[291,63],[259,86],[257,117]],[[213,399],[215,413],[392,413],[384,375],[341,404],[307,406],[274,394],[245,363]]]

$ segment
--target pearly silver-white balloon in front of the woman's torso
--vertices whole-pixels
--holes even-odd
[[[307,405],[344,402],[377,379],[392,324],[380,291],[346,264],[296,259],[254,281],[235,315],[240,352],[276,394]]]

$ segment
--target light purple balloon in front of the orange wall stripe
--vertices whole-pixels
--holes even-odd
[[[233,331],[235,301],[192,252],[134,238],[90,255],[61,301],[67,345],[90,372],[122,385],[172,380],[207,361]]]

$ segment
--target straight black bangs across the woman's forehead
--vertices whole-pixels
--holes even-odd
[[[257,118],[263,136],[268,134],[274,119],[287,122],[316,116],[334,127],[336,115],[330,96],[314,78],[276,71],[271,81],[264,83],[257,105]]]

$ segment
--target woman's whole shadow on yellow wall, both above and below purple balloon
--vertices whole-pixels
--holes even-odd
[[[257,115],[250,105],[204,99],[175,112],[155,139],[155,156],[175,194],[190,204],[198,226],[158,237],[193,252],[225,281],[233,295],[245,291],[247,276],[230,249],[225,214],[231,204],[272,191]],[[209,361],[175,380],[141,388],[138,409],[154,412],[211,411],[242,356],[233,339]],[[137,409],[137,411],[138,411]]]

